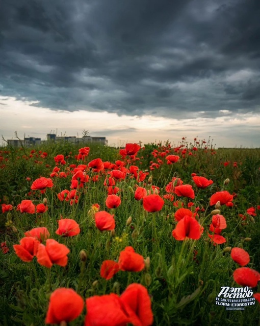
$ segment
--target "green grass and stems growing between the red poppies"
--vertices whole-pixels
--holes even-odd
[[[93,295],[115,292],[121,294],[132,283],[145,286],[151,296],[154,325],[256,325],[259,318],[258,302],[254,306],[245,307],[244,311],[228,311],[223,306],[216,305],[216,296],[221,287],[239,287],[233,281],[233,271],[239,267],[230,258],[230,252],[224,252],[225,247],[242,247],[250,254],[250,268],[260,271],[259,250],[259,214],[254,218],[247,216],[245,221],[239,218],[246,210],[260,204],[260,150],[248,149],[218,149],[205,150],[199,144],[198,150],[192,150],[194,144],[183,143],[187,148],[184,157],[174,152],[169,144],[147,144],[138,152],[138,160],[126,162],[126,167],[133,164],[149,175],[145,181],[137,182],[131,174],[125,180],[117,181],[120,188],[121,205],[114,209],[106,207],[107,189],[103,185],[107,172],[94,173],[82,189],[79,189],[79,202],[70,205],[61,202],[57,194],[62,190],[70,190],[72,174],[66,178],[53,178],[54,187],[47,188],[45,194],[39,191],[31,192],[32,182],[40,176],[49,177],[55,167],[54,156],[63,154],[66,165],[59,166],[60,171],[68,172],[70,164],[88,164],[94,158],[115,163],[121,159],[119,149],[89,145],[90,154],[86,161],[76,161],[78,149],[68,143],[45,144],[36,148],[31,154],[31,148],[2,148],[0,156],[0,199],[1,203],[17,206],[22,200],[30,199],[35,204],[47,198],[48,211],[43,214],[20,213],[15,208],[9,213],[0,214],[0,242],[6,242],[10,248],[8,253],[0,251],[0,315],[3,325],[43,325],[51,292],[59,287],[69,287],[77,291],[84,299]],[[87,145],[86,145],[87,146]],[[152,151],[179,155],[180,159],[173,165],[167,165],[165,155],[154,157]],[[40,157],[39,151],[48,155]],[[188,155],[191,152],[193,155]],[[38,155],[38,157],[37,157]],[[150,162],[162,164],[150,171]],[[224,162],[230,162],[226,167]],[[233,167],[237,162],[237,167]],[[70,169],[73,170],[73,169]],[[204,190],[198,191],[191,178],[196,173],[214,183]],[[98,180],[92,177],[98,175]],[[148,184],[148,177],[152,183]],[[159,195],[166,194],[165,186],[176,176],[184,184],[192,184],[195,191],[194,205],[204,208],[198,212],[199,222],[203,225],[203,235],[199,240],[177,241],[172,236],[176,226],[174,213],[178,207],[165,200],[164,207],[156,213],[148,213],[143,209],[142,201],[136,201],[132,189],[136,185],[151,190],[151,185],[160,188]],[[27,181],[26,178],[31,178]],[[230,179],[223,185],[226,178]],[[221,215],[226,218],[227,228],[222,231],[226,243],[214,246],[208,236],[211,224],[210,197],[217,191],[235,192],[233,207],[221,206]],[[187,207],[191,199],[176,197]],[[115,215],[115,235],[110,231],[100,232],[91,213],[94,203],[100,205],[100,211]],[[80,224],[78,236],[62,238],[55,234],[60,216],[70,218]],[[132,223],[126,226],[128,217]],[[24,237],[24,232],[33,227],[45,226],[50,232],[50,238],[65,244],[69,249],[68,264],[65,267],[54,265],[50,269],[37,263],[36,258],[25,263],[17,257],[13,245]],[[212,234],[212,232],[211,232]],[[251,241],[245,241],[251,238]],[[120,251],[126,246],[133,246],[135,251],[150,258],[149,270],[141,272],[119,271],[111,280],[100,277],[100,267],[104,260],[118,260]],[[87,252],[87,261],[80,260],[81,250]],[[196,251],[196,257],[194,253]],[[97,282],[96,282],[97,281]],[[257,292],[257,287],[253,289]],[[259,292],[259,287],[258,287]],[[81,316],[70,325],[84,324],[86,308]]]

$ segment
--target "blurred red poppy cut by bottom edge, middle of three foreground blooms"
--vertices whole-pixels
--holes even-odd
[[[86,299],[86,306],[85,326],[125,326],[129,322],[115,293],[94,295]]]

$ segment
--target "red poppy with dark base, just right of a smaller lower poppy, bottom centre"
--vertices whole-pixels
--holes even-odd
[[[125,247],[120,252],[118,260],[119,268],[128,272],[140,272],[144,269],[144,258],[131,246]]]

